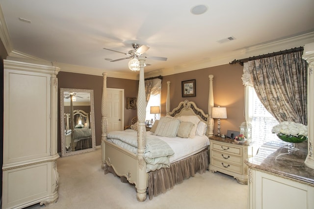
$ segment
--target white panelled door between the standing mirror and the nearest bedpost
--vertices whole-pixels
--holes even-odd
[[[107,119],[109,131],[123,131],[124,89],[107,89]]]

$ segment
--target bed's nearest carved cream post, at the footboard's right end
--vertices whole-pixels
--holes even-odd
[[[143,154],[146,146],[146,95],[145,95],[145,81],[144,81],[144,62],[145,57],[139,57],[139,83],[137,95],[137,118],[138,118],[138,131],[137,131],[137,185],[136,185],[136,198],[138,201],[146,200],[147,189],[147,173],[146,162],[144,161]]]

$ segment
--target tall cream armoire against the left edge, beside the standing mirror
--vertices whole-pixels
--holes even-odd
[[[58,199],[59,68],[3,60],[2,208]]]

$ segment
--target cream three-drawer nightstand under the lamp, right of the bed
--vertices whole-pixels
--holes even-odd
[[[209,139],[209,170],[233,176],[238,183],[247,185],[248,166],[244,160],[252,157],[250,144],[237,144],[234,139],[221,137]]]

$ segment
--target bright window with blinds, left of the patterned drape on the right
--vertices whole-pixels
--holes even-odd
[[[253,87],[247,86],[246,105],[248,107],[247,120],[252,124],[252,139],[257,148],[267,141],[278,140],[271,133],[278,121],[264,108]]]

